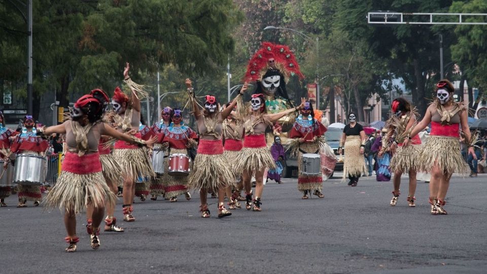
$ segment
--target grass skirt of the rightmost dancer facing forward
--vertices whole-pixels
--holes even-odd
[[[447,176],[454,173],[467,175],[469,167],[460,151],[458,138],[430,135],[420,155],[420,170],[431,173],[438,161],[439,169]]]

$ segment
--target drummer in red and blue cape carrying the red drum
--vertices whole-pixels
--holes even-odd
[[[162,129],[158,136],[158,144],[162,147],[168,147],[169,155],[184,154],[188,155],[188,149],[196,145],[198,135],[190,127],[183,123],[183,111],[174,109],[172,112],[172,122],[169,126]],[[189,170],[188,170],[189,173]],[[179,195],[185,195],[187,200],[191,199],[188,192],[188,177],[187,176],[168,176],[164,184],[164,192],[166,197],[170,197],[170,202],[177,202]]]

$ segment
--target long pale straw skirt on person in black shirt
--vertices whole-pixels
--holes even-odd
[[[346,136],[343,161],[343,181],[349,176],[361,176],[367,174],[364,155],[360,153],[360,136]]]

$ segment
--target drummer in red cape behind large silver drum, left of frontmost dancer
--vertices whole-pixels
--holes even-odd
[[[20,134],[14,138],[12,146],[10,147],[9,162],[15,161],[15,154],[25,155],[41,155],[44,156],[46,150],[49,148],[49,143],[36,135],[37,129],[34,127],[34,119],[31,115],[24,116],[23,128]],[[39,170],[41,172],[41,170]],[[38,206],[42,200],[40,185],[25,185],[18,184],[19,187],[19,203],[17,208],[27,207],[27,200],[33,201],[34,206]]]

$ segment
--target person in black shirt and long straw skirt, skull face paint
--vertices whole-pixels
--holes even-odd
[[[357,186],[362,173],[367,173],[364,159],[366,136],[364,128],[356,122],[356,119],[355,113],[349,114],[350,123],[343,128],[340,147],[338,148],[338,153],[342,153],[342,148],[346,153],[343,160],[343,181],[348,176],[350,179],[349,186]]]

